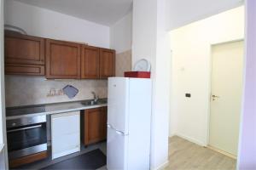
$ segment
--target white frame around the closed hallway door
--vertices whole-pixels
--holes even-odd
[[[207,144],[205,145],[206,147],[209,147],[209,143],[210,143],[210,117],[211,117],[211,99],[212,99],[212,47],[215,45],[221,45],[221,44],[225,44],[225,43],[231,43],[231,42],[245,42],[245,38],[239,38],[239,39],[234,39],[234,40],[230,40],[230,41],[226,41],[226,42],[217,42],[217,43],[211,43],[210,44],[210,59],[209,59],[209,66],[210,66],[210,71],[209,71],[209,86],[208,86],[208,100],[207,100],[207,107],[208,107],[208,111],[207,111]],[[245,45],[244,45],[244,49],[245,49]],[[242,77],[242,84],[244,84],[244,80],[245,80],[245,68],[246,68],[246,53],[245,50],[243,51],[243,77]],[[241,89],[243,90],[243,89]],[[241,107],[243,105],[243,92],[242,92],[242,96],[241,96]],[[241,117],[242,117],[242,108],[241,108],[241,114],[240,114],[240,122],[239,122],[239,139],[238,139],[238,145],[237,145],[237,150],[239,149],[239,141],[240,141],[240,133],[241,133]],[[217,150],[218,152],[221,152],[221,150]],[[222,152],[223,153],[223,152]],[[226,152],[224,152],[223,154],[231,156],[233,158],[235,158],[232,155],[226,154]],[[239,153],[238,153],[239,154]],[[237,155],[238,156],[238,155]]]

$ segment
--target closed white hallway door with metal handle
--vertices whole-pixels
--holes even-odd
[[[237,156],[243,75],[243,41],[212,46],[209,145]]]

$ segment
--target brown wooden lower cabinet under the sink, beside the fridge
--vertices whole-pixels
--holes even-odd
[[[107,107],[83,111],[81,121],[81,138],[84,145],[107,139]]]

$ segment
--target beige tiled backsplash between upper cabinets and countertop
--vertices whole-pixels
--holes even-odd
[[[73,99],[67,95],[47,96],[51,88],[62,89],[67,84],[79,89]],[[96,92],[100,98],[108,96],[107,80],[46,80],[44,77],[5,77],[6,106],[38,105],[57,102],[92,99],[91,92]]]

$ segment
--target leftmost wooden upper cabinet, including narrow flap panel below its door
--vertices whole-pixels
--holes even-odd
[[[5,31],[5,74],[44,76],[44,50],[44,38]]]

